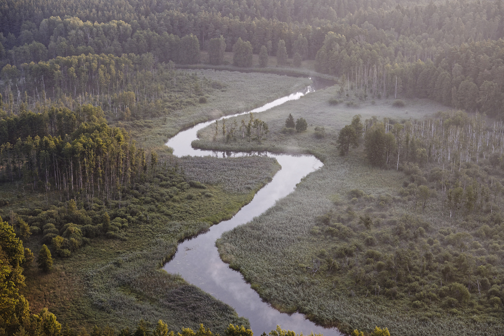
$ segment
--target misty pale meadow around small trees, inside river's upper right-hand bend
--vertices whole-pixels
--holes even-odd
[[[359,103],[347,106],[346,102],[332,105],[329,100],[338,97],[338,86],[329,87],[323,90],[310,93],[298,100],[288,101],[269,111],[258,113],[259,117],[268,123],[268,136],[259,144],[257,141],[248,142],[248,139],[237,137],[236,141],[228,143],[219,140],[213,141],[214,125],[208,126],[199,131],[199,139],[193,142],[193,146],[205,149],[220,150],[271,150],[274,152],[286,153],[311,153],[324,159],[325,156],[335,155],[336,140],[339,130],[349,124],[355,114],[362,116],[362,121],[371,116],[378,118],[388,117],[395,119],[421,118],[425,115],[433,114],[439,110],[444,110],[443,105],[429,101],[427,99],[407,100],[404,107],[393,107],[393,99],[377,99],[359,101],[358,99],[347,99],[346,101],[359,101]],[[286,133],[284,131],[285,119],[291,113],[294,119],[303,117],[308,123],[305,132]],[[229,125],[236,119],[240,124],[241,119],[248,122],[248,116],[243,115],[237,118],[227,119]],[[222,126],[222,123],[220,123]],[[324,132],[316,133],[316,127],[324,127]],[[222,137],[221,137],[222,138]]]

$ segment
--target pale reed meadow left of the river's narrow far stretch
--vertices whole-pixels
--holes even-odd
[[[212,81],[212,91],[206,103],[197,103],[161,117],[146,120],[118,121],[117,126],[132,132],[137,142],[146,149],[168,151],[164,143],[179,130],[202,121],[227,114],[247,111],[311,84],[308,78],[273,74],[239,73],[215,70],[186,70],[199,78]]]

